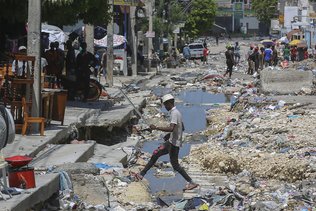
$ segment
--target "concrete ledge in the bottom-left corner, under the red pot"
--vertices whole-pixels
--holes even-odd
[[[0,210],[28,210],[34,205],[44,202],[59,190],[59,174],[36,175],[36,188],[25,190],[7,201],[1,201]]]

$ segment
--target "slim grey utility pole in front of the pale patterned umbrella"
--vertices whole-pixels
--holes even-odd
[[[113,0],[109,0],[110,14],[113,13]],[[110,87],[113,86],[113,19],[111,18],[107,26],[107,63],[106,63],[106,81]]]

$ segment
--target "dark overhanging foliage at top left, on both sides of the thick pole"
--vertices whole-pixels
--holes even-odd
[[[27,22],[27,0],[0,0],[0,20],[9,23]],[[112,17],[107,0],[42,0],[42,21],[57,26],[78,20],[106,25]]]

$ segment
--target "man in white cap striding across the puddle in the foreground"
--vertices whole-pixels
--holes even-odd
[[[167,127],[159,127],[155,125],[150,125],[152,130],[160,130],[167,132],[165,136],[165,142],[162,143],[157,150],[155,150],[146,164],[144,169],[140,173],[135,174],[136,180],[142,180],[147,173],[147,171],[156,163],[159,157],[169,154],[170,162],[173,169],[188,182],[184,190],[192,190],[199,185],[194,183],[191,177],[186,173],[186,171],[180,166],[178,161],[180,147],[182,146],[182,134],[184,131],[184,126],[182,122],[182,115],[180,111],[176,108],[174,103],[174,97],[171,94],[166,94],[162,97],[162,103],[167,111],[170,112],[171,121]]]

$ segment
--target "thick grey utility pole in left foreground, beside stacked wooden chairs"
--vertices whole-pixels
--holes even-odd
[[[28,1],[27,54],[35,56],[32,116],[41,116],[41,0]]]

